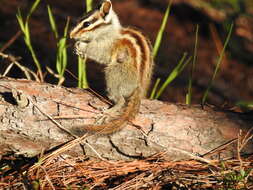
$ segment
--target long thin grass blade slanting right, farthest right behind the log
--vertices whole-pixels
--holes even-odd
[[[230,40],[232,31],[233,31],[233,26],[234,26],[234,24],[232,23],[232,24],[230,25],[230,29],[229,29],[227,38],[226,38],[226,40],[225,40],[223,49],[222,49],[221,54],[220,54],[220,56],[219,56],[219,60],[218,60],[218,62],[217,62],[217,64],[216,64],[215,71],[214,71],[214,74],[213,74],[213,76],[212,76],[212,79],[210,80],[210,82],[209,82],[209,84],[208,84],[208,87],[207,87],[207,89],[206,89],[206,91],[205,91],[205,93],[204,93],[204,95],[203,95],[203,98],[202,98],[202,101],[201,101],[201,104],[202,104],[202,105],[205,104],[206,99],[207,99],[207,97],[208,97],[208,93],[209,93],[209,91],[210,91],[210,89],[211,89],[211,87],[212,87],[212,84],[213,84],[213,82],[214,82],[214,79],[215,79],[215,77],[216,77],[216,75],[217,75],[217,73],[218,73],[218,71],[219,71],[220,64],[221,64],[221,62],[222,62],[222,58],[223,58],[223,56],[224,56],[226,47],[227,47],[227,45],[228,45],[228,42],[229,42],[229,40]]]

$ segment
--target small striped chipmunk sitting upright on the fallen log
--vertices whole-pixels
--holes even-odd
[[[105,110],[102,124],[78,130],[100,134],[119,131],[135,118],[149,87],[153,68],[149,41],[141,32],[121,26],[110,0],[88,12],[70,38],[76,41],[76,54],[105,65],[106,90],[114,103]]]

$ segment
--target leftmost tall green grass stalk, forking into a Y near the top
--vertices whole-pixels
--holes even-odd
[[[20,9],[18,9],[18,13],[16,15],[17,17],[17,20],[18,20],[18,23],[19,23],[19,26],[20,26],[20,29],[24,35],[24,41],[25,41],[25,44],[26,46],[28,47],[31,55],[32,55],[32,58],[33,58],[33,61],[35,63],[35,66],[37,67],[37,71],[38,71],[38,76],[39,76],[39,79],[41,82],[44,81],[44,77],[43,77],[43,73],[42,73],[42,69],[41,69],[41,65],[40,65],[40,62],[35,54],[35,51],[33,49],[33,46],[32,46],[32,42],[31,42],[31,36],[30,36],[30,29],[29,29],[29,19],[32,15],[32,13],[36,10],[37,6],[39,5],[40,3],[40,0],[36,0],[31,9],[29,10],[26,18],[24,19],[22,17],[22,14],[21,14],[21,11]]]

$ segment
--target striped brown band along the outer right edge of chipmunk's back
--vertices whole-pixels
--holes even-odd
[[[150,52],[150,45],[147,42],[146,38],[138,31],[135,31],[133,29],[127,28],[122,30],[123,35],[129,35],[130,37],[134,38],[136,41],[136,44],[138,44],[139,47],[139,53],[140,53],[140,63],[139,63],[139,76],[140,76],[140,82],[142,83],[142,86],[145,88],[149,85],[150,76],[149,73],[151,73],[150,68],[152,63],[151,62],[151,52]]]

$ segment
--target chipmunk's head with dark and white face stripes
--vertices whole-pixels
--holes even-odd
[[[112,10],[111,1],[103,0],[96,9],[81,18],[70,32],[70,38],[88,43],[120,27],[118,17]]]

